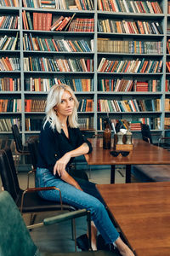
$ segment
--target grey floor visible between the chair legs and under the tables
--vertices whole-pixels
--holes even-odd
[[[121,167],[120,167],[121,168]],[[116,183],[124,183],[122,177],[124,170],[116,172]],[[94,183],[110,183],[111,171],[108,169],[92,170],[90,181]],[[26,189],[26,173],[19,173],[20,187]],[[1,181],[0,181],[1,183]],[[31,186],[34,186],[34,179],[31,177]],[[58,214],[59,212],[57,212]],[[36,222],[41,221],[42,218],[53,216],[54,212],[38,213]],[[24,215],[26,224],[29,221],[29,214]],[[77,219],[77,236],[86,233],[86,219]],[[42,227],[31,231],[31,237],[41,251],[48,251],[52,253],[60,252],[74,252],[74,241],[71,239],[71,223],[55,224],[53,226]]]

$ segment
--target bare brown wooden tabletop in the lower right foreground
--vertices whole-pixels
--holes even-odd
[[[170,255],[170,183],[96,186],[136,255]]]

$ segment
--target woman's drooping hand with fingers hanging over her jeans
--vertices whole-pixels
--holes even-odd
[[[65,172],[65,167],[68,162],[71,160],[71,155],[66,153],[59,160],[56,161],[54,165],[54,175],[59,174],[59,177],[62,176],[62,173]]]

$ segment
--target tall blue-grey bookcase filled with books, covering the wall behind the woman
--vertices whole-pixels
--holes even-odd
[[[10,135],[13,122],[22,124],[23,143],[38,133],[48,89],[65,82],[80,102],[82,128],[101,131],[101,119],[109,114],[111,119],[143,119],[164,135],[170,123],[167,0],[57,3],[1,1],[0,133]],[[2,112],[4,100],[14,102],[12,111]]]

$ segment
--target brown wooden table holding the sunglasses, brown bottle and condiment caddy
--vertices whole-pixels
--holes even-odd
[[[92,143],[93,151],[85,154],[88,165],[111,166],[111,183],[115,183],[115,166],[126,166],[126,183],[131,180],[131,165],[166,165],[170,164],[170,152],[164,148],[146,143],[143,140],[133,139],[133,151],[123,157],[119,154],[114,157],[110,154],[110,149],[103,149],[101,138],[89,139]]]

